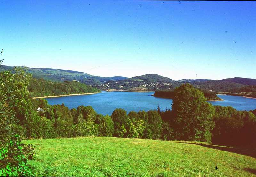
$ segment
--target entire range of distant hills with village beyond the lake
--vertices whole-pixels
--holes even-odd
[[[11,70],[13,67],[1,65],[0,71]],[[43,78],[48,81],[80,81],[87,85],[92,85],[98,89],[126,89],[126,90],[157,90],[157,89],[174,89],[183,83],[190,83],[196,88],[212,90],[215,92],[228,92],[233,89],[239,89],[248,85],[256,85],[256,79],[248,78],[228,78],[222,80],[210,79],[182,79],[172,80],[168,77],[158,74],[145,74],[132,78],[113,76],[100,77],[93,76],[84,72],[52,69],[52,68],[28,68],[26,70],[35,78]]]

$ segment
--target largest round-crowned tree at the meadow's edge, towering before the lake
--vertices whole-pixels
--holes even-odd
[[[211,141],[214,107],[190,84],[174,90],[172,104],[175,137],[189,141]]]

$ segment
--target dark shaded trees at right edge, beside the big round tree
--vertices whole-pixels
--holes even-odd
[[[255,146],[256,117],[253,113],[215,106],[213,119],[213,143]]]

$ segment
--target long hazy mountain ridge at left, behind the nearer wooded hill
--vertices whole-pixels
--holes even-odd
[[[1,65],[0,71],[12,70],[13,66]],[[128,79],[127,77],[114,76],[114,77],[100,77],[93,76],[84,72],[72,71],[72,70],[62,70],[62,69],[52,69],[52,68],[26,68],[27,72],[31,73],[34,78],[43,78],[48,81],[80,81],[87,85],[101,84],[107,81],[119,81]]]

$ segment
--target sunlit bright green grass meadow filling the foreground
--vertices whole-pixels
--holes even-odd
[[[256,152],[201,142],[114,137],[27,140],[36,176],[256,176]],[[218,170],[215,170],[215,166]]]

